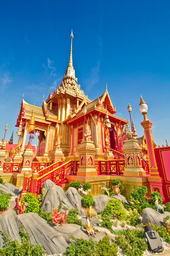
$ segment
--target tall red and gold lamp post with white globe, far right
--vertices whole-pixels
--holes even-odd
[[[141,122],[142,127],[144,128],[144,135],[146,139],[146,145],[147,145],[147,155],[149,160],[149,166],[150,166],[150,177],[148,177],[148,181],[151,186],[152,191],[159,191],[161,193],[163,201],[165,201],[164,198],[164,192],[163,192],[163,183],[162,178],[159,175],[159,170],[156,164],[156,158],[155,158],[155,152],[153,147],[153,134],[152,134],[152,125],[153,122],[151,122],[147,118],[147,104],[142,99],[139,103],[139,110],[141,111],[142,115],[144,116],[144,121]]]

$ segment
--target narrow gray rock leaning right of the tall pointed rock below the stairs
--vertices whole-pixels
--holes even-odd
[[[75,188],[68,188],[68,190],[65,192],[65,195],[67,196],[68,200],[70,201],[72,208],[76,208],[79,210],[79,213],[82,215],[82,217],[87,216],[87,210],[82,209],[82,196],[79,195],[79,192]]]

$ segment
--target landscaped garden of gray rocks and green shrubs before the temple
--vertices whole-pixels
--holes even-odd
[[[79,190],[79,184],[74,182],[64,192],[47,180],[42,195],[27,193],[21,197],[17,195],[15,200],[14,195],[11,197],[6,192],[11,189],[14,193],[16,188],[6,185],[1,184],[0,191],[0,211],[3,212],[0,215],[0,256],[152,255],[144,239],[146,226],[152,226],[161,237],[163,253],[170,250],[170,203],[166,204],[164,214],[157,212],[153,209],[154,203],[157,197],[162,204],[161,195],[152,192],[147,201],[144,186],[133,189],[129,198],[111,191],[110,196],[92,197],[88,183],[84,190]],[[117,181],[113,183],[116,185]],[[20,191],[18,194],[20,196]],[[69,211],[65,215],[67,223],[62,227],[59,226],[61,221],[55,224],[51,219],[53,207],[56,212]],[[86,225],[89,207],[94,210],[89,221],[96,233],[90,237]]]

